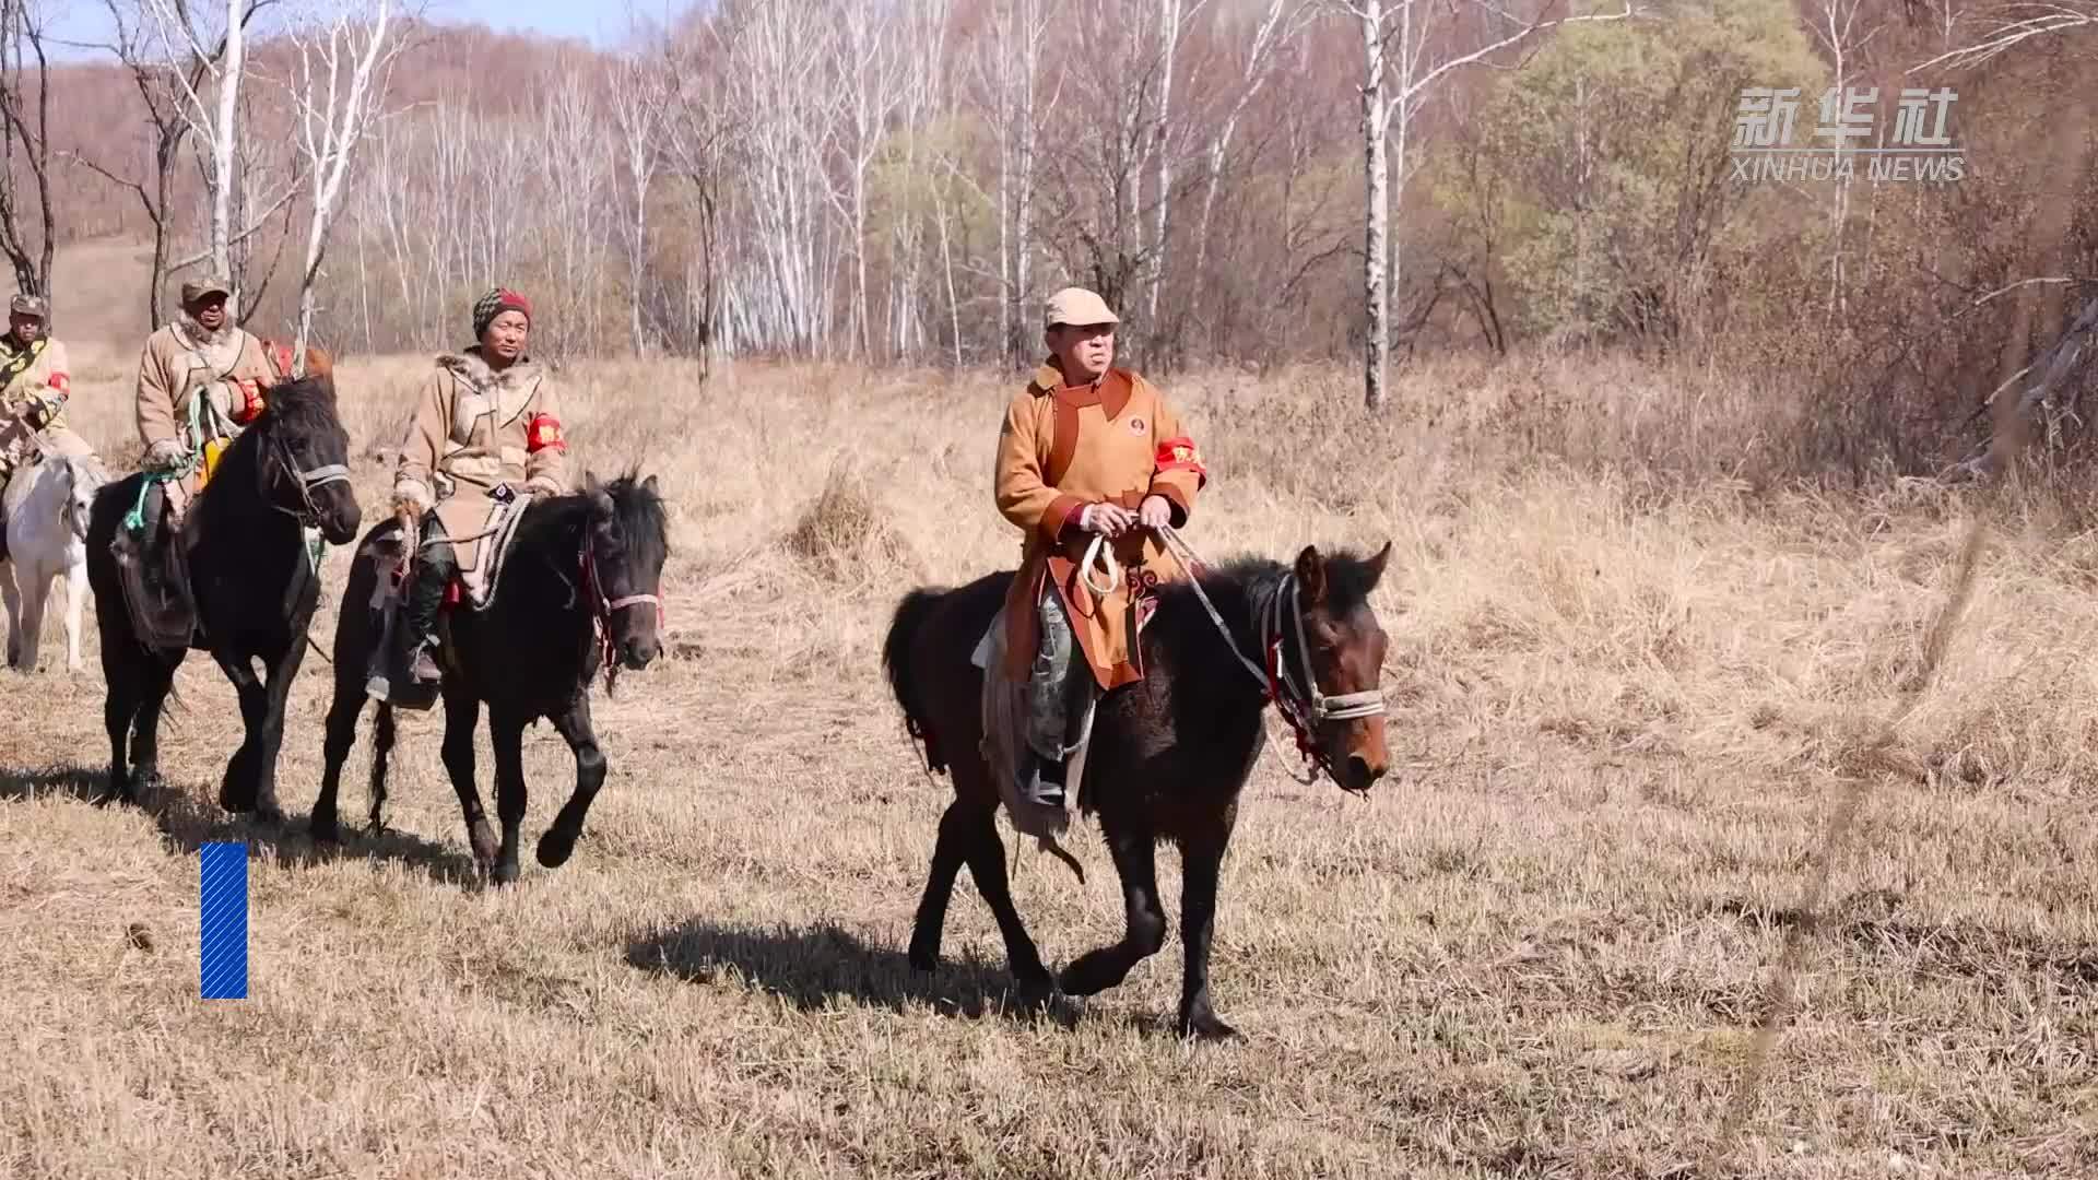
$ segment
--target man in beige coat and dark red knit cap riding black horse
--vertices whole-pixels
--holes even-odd
[[[529,336],[524,296],[506,288],[483,294],[474,302],[478,342],[436,359],[401,445],[394,510],[420,521],[422,544],[401,605],[392,666],[407,666],[420,687],[441,678],[432,653],[436,613],[462,559],[480,569],[497,556],[499,538],[485,538],[495,510],[516,491],[569,491],[560,403],[545,370],[524,353]],[[388,699],[380,682],[369,693]],[[392,703],[428,708],[428,701]]]

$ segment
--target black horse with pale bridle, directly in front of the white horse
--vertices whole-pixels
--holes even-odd
[[[357,535],[359,508],[350,487],[350,435],[336,412],[336,384],[325,361],[315,376],[269,391],[269,405],[227,447],[210,483],[183,517],[187,605],[157,615],[159,638],[141,638],[124,571],[111,548],[124,517],[145,504],[147,527],[157,527],[159,489],[147,475],[105,483],[88,512],[88,586],[103,640],[103,724],[109,731],[107,798],[136,802],[138,789],[159,781],[159,710],[174,684],[174,670],[191,651],[208,651],[233,680],[245,737],[227,762],[218,804],[233,813],[281,819],[277,806],[277,747],[283,739],[283,701],[306,655],[306,626],[319,605],[321,580],[306,548],[315,527],[329,544]],[[126,544],[130,538],[124,538]],[[176,559],[180,561],[180,559]],[[189,642],[180,636],[189,634]],[[256,661],[264,676],[256,676]]]

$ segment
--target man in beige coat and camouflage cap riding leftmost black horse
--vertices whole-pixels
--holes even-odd
[[[138,353],[138,443],[166,502],[155,527],[147,517],[147,561],[159,565],[189,502],[218,456],[262,414],[269,388],[292,376],[290,349],[262,344],[233,323],[233,286],[216,275],[183,283],[183,311],[159,325]],[[151,491],[149,491],[151,496]]]

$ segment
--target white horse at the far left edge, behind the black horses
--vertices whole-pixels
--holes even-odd
[[[80,672],[80,609],[88,596],[88,508],[107,481],[92,458],[52,454],[17,468],[6,487],[6,663],[36,670],[50,580],[65,577],[65,670]],[[27,487],[17,487],[27,481]]]

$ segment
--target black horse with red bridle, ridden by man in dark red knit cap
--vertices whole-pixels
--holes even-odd
[[[598,787],[604,752],[590,729],[590,680],[611,661],[646,668],[657,655],[663,561],[669,556],[669,521],[657,481],[623,475],[600,485],[585,475],[581,491],[533,500],[518,521],[504,556],[504,571],[487,609],[451,605],[441,615],[445,701],[443,760],[466,813],[466,838],[483,878],[518,878],[518,825],[524,819],[524,726],[539,718],[575,752],[575,794],[539,838],[539,863],[560,867],[583,834]],[[315,840],[340,840],[336,792],[342,762],[357,741],[365,701],[365,659],[384,634],[373,607],[380,577],[401,563],[401,533],[392,523],[371,529],[357,546],[350,582],[336,624],[336,699],[327,710],[327,764],[313,804]],[[495,810],[504,823],[501,850],[489,831],[474,783],[474,724],[489,705],[495,747]],[[394,743],[394,705],[378,703],[371,743],[371,827],[382,827],[386,762]]]

